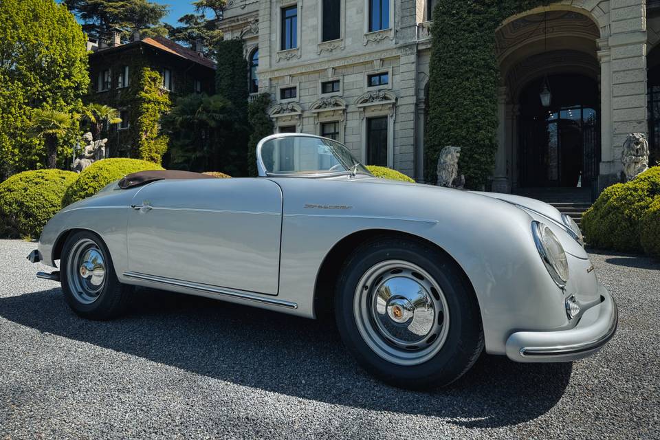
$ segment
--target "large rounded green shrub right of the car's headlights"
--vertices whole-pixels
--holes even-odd
[[[582,228],[589,244],[624,252],[639,252],[641,220],[660,196],[660,167],[625,184],[615,184],[602,192],[582,216]],[[652,217],[652,214],[649,214]],[[649,219],[648,221],[651,221]],[[644,234],[644,239],[649,239]],[[652,248],[652,245],[649,243]]]

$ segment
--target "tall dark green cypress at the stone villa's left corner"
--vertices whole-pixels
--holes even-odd
[[[217,45],[217,71],[215,91],[234,107],[234,136],[219,148],[225,158],[231,160],[239,175],[248,173],[248,62],[243,55],[242,40],[221,41]]]

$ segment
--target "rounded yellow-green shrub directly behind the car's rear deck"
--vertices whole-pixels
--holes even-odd
[[[80,177],[72,186],[67,188],[62,206],[70,205],[74,201],[91,197],[104,186],[119,180],[125,175],[144,170],[162,170],[162,166],[140,159],[102,159],[94,162],[80,173]]]

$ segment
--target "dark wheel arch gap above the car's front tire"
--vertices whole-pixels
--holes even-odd
[[[319,270],[316,274],[316,283],[314,285],[314,316],[318,319],[329,320],[332,318],[333,313],[333,298],[334,291],[336,287],[336,281],[339,278],[340,270],[344,261],[347,257],[362,243],[374,239],[375,237],[383,238],[393,238],[393,239],[408,239],[412,241],[417,241],[428,245],[436,250],[439,250],[454,262],[456,268],[459,270],[459,273],[463,277],[465,285],[468,287],[468,290],[474,295],[474,298],[479,304],[479,298],[474,289],[474,285],[470,278],[463,270],[463,267],[459,264],[454,257],[444,250],[437,243],[425,239],[422,236],[415,234],[410,234],[408,232],[402,232],[399,230],[387,230],[387,229],[369,229],[369,230],[360,230],[353,232],[347,236],[344,236],[339,240],[329,252],[325,255]],[[479,306],[481,314],[481,305]]]

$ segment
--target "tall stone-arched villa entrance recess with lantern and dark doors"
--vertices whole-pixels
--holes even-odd
[[[500,131],[494,190],[597,185],[599,37],[594,19],[577,10],[530,12],[498,28]],[[544,107],[540,92],[546,78],[552,97]]]

